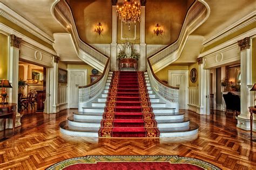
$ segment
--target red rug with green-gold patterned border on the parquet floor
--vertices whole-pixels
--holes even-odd
[[[71,158],[46,169],[220,169],[208,162],[177,155],[88,155]]]

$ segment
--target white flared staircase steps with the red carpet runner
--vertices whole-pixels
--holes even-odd
[[[105,89],[89,106],[60,123],[84,137],[183,137],[198,125],[154,93],[147,72],[109,72]]]

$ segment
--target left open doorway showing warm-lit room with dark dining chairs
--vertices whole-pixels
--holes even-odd
[[[44,112],[46,68],[19,61],[18,111],[22,114]]]

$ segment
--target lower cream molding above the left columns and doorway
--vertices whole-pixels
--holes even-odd
[[[10,34],[15,34],[15,36],[22,38],[23,41],[28,42],[29,44],[32,44],[40,49],[43,49],[44,51],[53,54],[53,55],[57,55],[57,53],[55,51],[53,51],[52,49],[45,47],[44,45],[40,44],[39,42],[24,36],[24,34],[10,28],[9,26],[4,25],[3,23],[0,23],[0,32],[4,33],[6,36],[9,36]]]

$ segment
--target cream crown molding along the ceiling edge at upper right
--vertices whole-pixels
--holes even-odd
[[[251,12],[249,15],[241,18],[237,22],[233,23],[232,25],[228,26],[226,29],[223,31],[220,31],[218,34],[215,34],[211,38],[203,41],[204,46],[208,46],[213,44],[214,42],[232,34],[233,32],[242,29],[243,27],[255,22],[256,20],[256,11]]]

